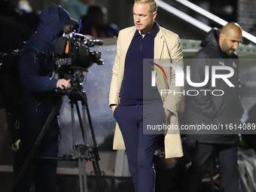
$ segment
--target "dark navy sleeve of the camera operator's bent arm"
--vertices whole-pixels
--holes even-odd
[[[19,62],[20,80],[29,90],[45,92],[56,89],[57,79],[41,76],[41,67],[38,59],[31,53],[23,53]]]

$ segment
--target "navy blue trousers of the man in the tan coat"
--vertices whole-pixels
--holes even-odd
[[[153,157],[160,132],[152,130],[152,134],[144,134],[143,125],[144,129],[148,124],[162,125],[165,117],[162,102],[147,106],[118,105],[114,110],[136,192],[153,192],[155,185]]]

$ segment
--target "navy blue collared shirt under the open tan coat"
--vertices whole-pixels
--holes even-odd
[[[126,53],[120,105],[142,105],[145,96],[151,102],[161,101],[157,87],[151,87],[151,71],[153,69],[150,66],[153,66],[153,63],[143,63],[143,59],[154,59],[154,38],[157,36],[158,30],[159,26],[156,22],[151,32],[144,37],[136,30]],[[145,65],[144,71],[143,65]],[[147,73],[147,77],[145,77],[145,73]]]

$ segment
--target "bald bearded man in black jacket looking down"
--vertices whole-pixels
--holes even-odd
[[[190,80],[194,83],[204,82],[207,66],[209,67],[209,82],[203,87],[188,86],[190,90],[199,92],[197,96],[186,98],[188,125],[204,125],[205,127],[219,125],[219,130],[221,126],[225,129],[225,125],[229,126],[231,123],[233,126],[235,124],[239,126],[243,109],[239,99],[238,56],[234,51],[241,40],[240,26],[237,23],[227,23],[221,31],[212,29],[202,42],[203,48],[196,54],[190,66]],[[227,81],[221,78],[212,79],[212,66],[232,68],[233,75]],[[228,72],[224,69],[216,70],[216,74],[227,75]],[[216,96],[217,94],[219,96]],[[224,186],[224,191],[240,191],[237,165],[239,135],[230,132],[223,134],[213,129],[206,130],[202,134],[194,133],[187,134],[187,146],[192,162],[188,170],[187,191],[199,191],[203,176],[216,156],[220,163],[221,184]]]

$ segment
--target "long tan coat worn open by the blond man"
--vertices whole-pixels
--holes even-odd
[[[129,27],[120,31],[117,38],[117,56],[114,60],[111,87],[109,93],[109,105],[120,102],[120,87],[123,81],[124,64],[126,59],[126,52],[130,46],[130,42],[133,39],[133,35],[136,32],[136,27]],[[166,59],[169,59],[169,63],[175,63],[183,69],[183,54],[181,50],[181,44],[176,35],[167,29],[160,27],[157,32],[156,38],[154,38],[154,62],[161,66],[162,62],[166,63]],[[163,61],[165,59],[165,61]],[[164,80],[156,73],[156,84],[158,90],[175,90],[175,92],[182,92],[183,87],[175,87],[175,71],[170,67],[163,67],[166,72],[167,80]],[[178,125],[178,104],[181,101],[182,94],[163,94],[161,96],[163,100],[163,108],[171,111],[172,115],[166,120],[166,124]],[[118,124],[116,125],[114,132],[114,145],[113,149],[125,149],[123,136],[120,132]],[[166,158],[181,157],[183,151],[181,147],[181,137],[178,130],[167,130],[165,135],[165,151]]]

